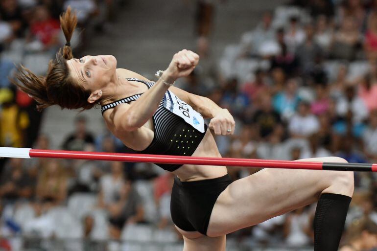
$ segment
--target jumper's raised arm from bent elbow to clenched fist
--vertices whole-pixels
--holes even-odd
[[[114,116],[114,124],[119,131],[135,131],[144,125],[156,112],[161,99],[170,86],[166,83],[173,83],[180,77],[185,77],[198,64],[199,56],[189,50],[181,50],[171,60],[169,67],[164,71],[162,77],[156,84],[145,91],[138,100],[133,102],[128,109]]]

